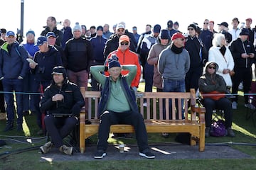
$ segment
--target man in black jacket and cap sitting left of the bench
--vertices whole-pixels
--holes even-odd
[[[64,145],[63,138],[75,128],[85,101],[78,86],[68,81],[64,67],[54,67],[52,76],[53,83],[47,87],[41,101],[41,110],[47,113],[44,123],[50,142],[40,149],[43,154],[52,147],[59,148],[65,154],[72,154],[73,147]]]

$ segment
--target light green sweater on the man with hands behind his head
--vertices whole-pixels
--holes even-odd
[[[94,77],[102,86],[105,85],[106,77],[102,72],[104,72],[104,66],[92,66],[90,67],[90,72],[92,77]],[[136,65],[123,65],[122,69],[129,70],[129,74],[126,75],[127,84],[129,86],[132,83],[132,80],[137,74]],[[110,77],[110,99],[107,102],[107,110],[122,113],[124,111],[129,111],[129,103],[125,97],[124,91],[121,87],[121,77],[117,81],[112,81]]]

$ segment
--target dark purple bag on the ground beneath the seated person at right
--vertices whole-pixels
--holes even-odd
[[[225,130],[225,122],[224,120],[218,120],[213,122],[210,127],[210,135],[214,137],[223,137],[227,134],[227,130]]]

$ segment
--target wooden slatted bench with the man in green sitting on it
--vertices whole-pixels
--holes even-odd
[[[80,152],[85,150],[85,139],[95,135],[99,128],[99,119],[97,118],[97,106],[100,99],[100,91],[85,91],[89,106],[87,113],[80,113]],[[143,106],[146,98],[146,107]],[[166,109],[166,120],[163,119],[163,103],[169,108],[169,100],[178,101],[178,119],[176,119],[176,109],[172,107],[171,118],[169,109]],[[181,100],[184,102],[185,119],[181,117]],[[175,100],[171,100],[172,106],[175,106]],[[188,102],[191,102],[190,109]],[[196,106],[196,92],[138,92],[137,103],[139,111],[144,117],[146,131],[148,133],[160,132],[189,132],[191,134],[191,146],[198,142],[199,151],[205,149],[205,108]],[[189,109],[189,110],[188,110]],[[86,116],[85,116],[86,115]],[[171,119],[171,120],[170,120]],[[91,124],[85,124],[85,120],[90,120]],[[111,125],[110,132],[134,132],[132,125]]]

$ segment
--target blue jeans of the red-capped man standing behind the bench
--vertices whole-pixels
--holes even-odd
[[[164,79],[164,92],[185,92],[185,80],[172,80],[172,79]],[[178,101],[175,102],[176,108],[178,108]],[[181,100],[181,108],[182,113],[183,111],[183,99]],[[172,111],[172,105],[171,105],[171,99],[169,99],[169,118],[171,118],[171,111]],[[164,101],[164,108],[163,108],[163,118],[166,119],[166,107],[165,107],[165,101]],[[178,118],[178,109],[176,111],[176,119]],[[182,114],[182,119],[184,119],[184,114]]]

